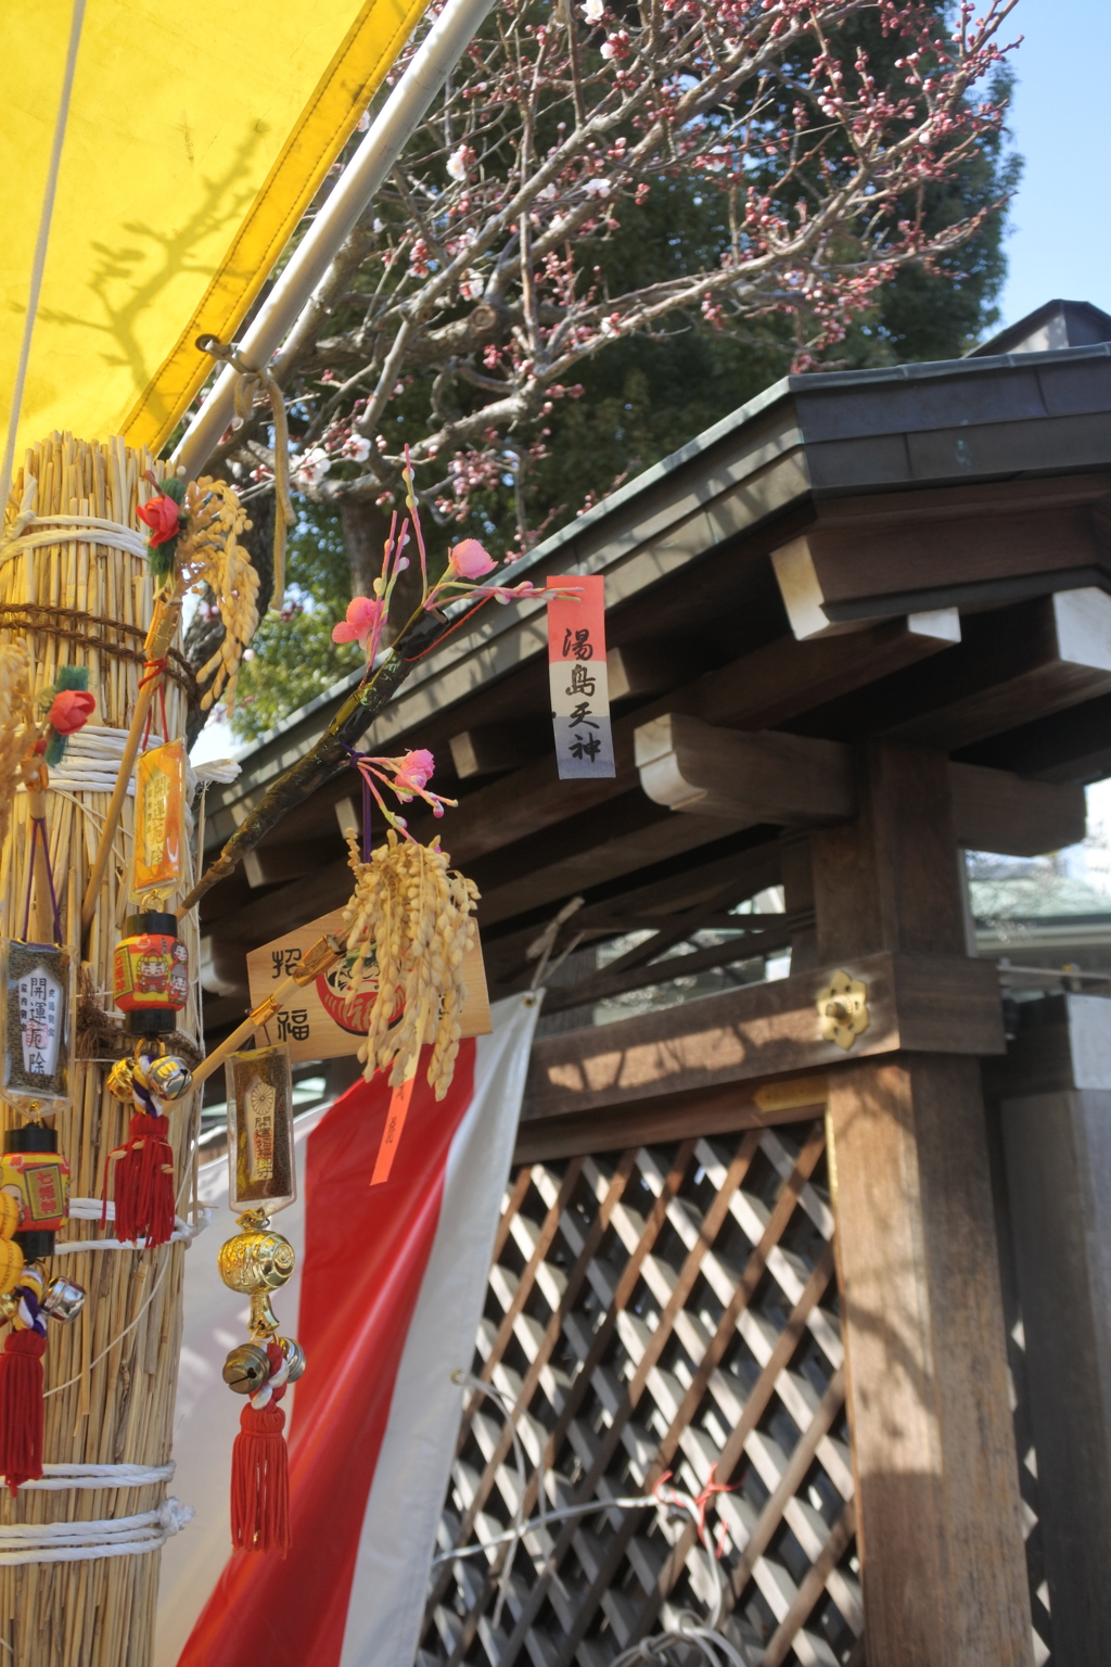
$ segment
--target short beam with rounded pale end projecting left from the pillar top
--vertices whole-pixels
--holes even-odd
[[[853,760],[838,742],[743,735],[668,712],[636,730],[641,787],[658,805],[733,822],[821,827],[853,815]]]

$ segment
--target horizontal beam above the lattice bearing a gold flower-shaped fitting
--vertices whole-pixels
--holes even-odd
[[[866,987],[868,1029],[849,1052],[823,1040],[818,994],[846,970]],[[708,995],[683,1007],[570,1030],[533,1044],[528,1117],[560,1117],[660,1094],[815,1070],[898,1049],[1001,1054],[993,964],[963,955],[864,955]]]

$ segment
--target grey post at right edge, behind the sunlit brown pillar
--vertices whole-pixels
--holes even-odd
[[[1053,1660],[1111,1660],[1111,1002],[1023,1004],[999,1125]]]

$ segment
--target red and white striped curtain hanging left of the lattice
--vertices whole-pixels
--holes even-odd
[[[423,1069],[383,1185],[370,1185],[390,1090],[355,1084],[298,1119],[296,1252],[275,1294],[308,1370],[290,1407],[288,1559],[230,1552],[240,1397],[223,1359],[245,1300],[215,1250],[235,1232],[227,1164],[203,1174],[212,1229],[190,1249],[173,1455],[197,1510],[163,1552],[155,1667],[410,1667],[508,1179],[538,1005],[493,1009],[433,1100]]]

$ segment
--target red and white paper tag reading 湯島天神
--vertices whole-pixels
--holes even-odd
[[[560,780],[615,775],[606,683],[606,582],[600,575],[548,578],[578,597],[548,603],[548,678]]]

